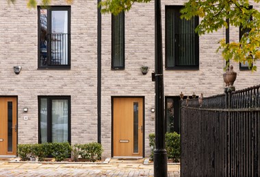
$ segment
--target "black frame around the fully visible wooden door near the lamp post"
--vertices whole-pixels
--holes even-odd
[[[142,107],[143,107],[143,117],[142,117],[142,124],[143,124],[143,134],[142,134],[142,157],[145,157],[145,99],[144,96],[112,96],[111,97],[111,110],[112,110],[112,114],[111,114],[111,156],[114,157],[114,98],[142,98]],[[135,158],[135,156],[133,156],[133,158]]]

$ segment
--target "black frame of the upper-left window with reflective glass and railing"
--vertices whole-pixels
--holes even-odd
[[[40,10],[47,10],[47,31],[51,34],[51,11],[53,10],[64,10],[68,12],[68,64],[47,64],[46,66],[41,66],[41,57],[40,57]],[[70,69],[70,23],[71,23],[71,7],[70,5],[51,5],[51,6],[40,6],[38,5],[38,69]],[[48,39],[49,40],[49,39]],[[47,58],[51,58],[51,43],[47,42]],[[47,62],[48,63],[48,62]]]

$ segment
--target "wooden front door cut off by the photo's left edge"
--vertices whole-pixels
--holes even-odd
[[[16,155],[16,97],[0,97],[0,155]]]

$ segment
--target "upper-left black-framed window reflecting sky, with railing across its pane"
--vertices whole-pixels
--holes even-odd
[[[70,6],[38,6],[38,68],[70,69]]]

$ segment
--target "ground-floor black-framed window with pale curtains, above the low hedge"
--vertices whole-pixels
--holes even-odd
[[[70,96],[38,97],[39,143],[70,143]]]

